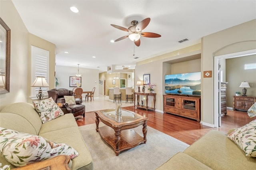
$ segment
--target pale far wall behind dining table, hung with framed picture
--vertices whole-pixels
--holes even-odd
[[[66,67],[56,65],[56,77],[60,83],[57,88],[66,88],[72,90],[74,87],[69,87],[70,76],[74,77],[77,73],[77,67]],[[99,70],[86,69],[79,67],[79,73],[82,74],[81,87],[83,91],[91,91],[95,87],[94,97],[99,96]],[[55,82],[55,81],[54,81]],[[83,95],[85,97],[85,95]]]

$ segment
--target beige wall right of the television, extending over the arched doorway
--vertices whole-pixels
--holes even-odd
[[[256,20],[210,34],[202,38],[201,71],[214,70],[214,56],[256,49]],[[202,81],[201,112],[203,122],[214,124],[214,79]]]

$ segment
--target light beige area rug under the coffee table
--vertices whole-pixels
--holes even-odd
[[[103,123],[99,127],[104,126]],[[148,127],[147,142],[116,156],[114,150],[96,132],[95,124],[79,127],[92,155],[94,170],[155,170],[174,154],[184,151],[189,145]],[[134,130],[143,136],[142,125]],[[114,133],[114,130],[113,130]]]

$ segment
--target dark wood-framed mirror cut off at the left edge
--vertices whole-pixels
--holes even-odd
[[[11,30],[0,17],[0,94],[10,92]]]

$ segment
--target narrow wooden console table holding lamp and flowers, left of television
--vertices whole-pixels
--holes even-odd
[[[137,106],[140,109],[146,109],[146,111],[148,111],[148,109],[156,110],[156,93],[134,92],[133,94],[134,94],[134,96],[133,96],[134,107]],[[136,95],[137,95],[137,105],[135,103]],[[144,104],[142,105],[142,103],[140,103],[140,95],[146,96],[146,106]],[[148,96],[154,97],[154,107],[148,107]]]

